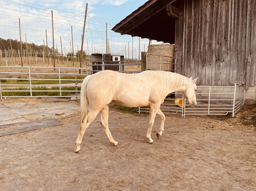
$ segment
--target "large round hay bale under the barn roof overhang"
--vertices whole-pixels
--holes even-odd
[[[166,57],[174,57],[174,49],[175,45],[149,45],[147,52],[147,70],[175,72],[174,58]]]

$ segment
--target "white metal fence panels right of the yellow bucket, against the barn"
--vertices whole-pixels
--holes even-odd
[[[198,86],[197,106],[185,105],[185,115],[227,115],[232,117],[245,103],[245,82],[234,86]]]

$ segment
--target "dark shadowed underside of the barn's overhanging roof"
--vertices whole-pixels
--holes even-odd
[[[121,35],[174,44],[175,18],[167,13],[166,7],[169,5],[177,8],[177,0],[149,0],[116,24],[112,30]]]

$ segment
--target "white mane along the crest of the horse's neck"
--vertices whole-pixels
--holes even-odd
[[[188,86],[190,85],[191,81],[189,80],[189,78],[182,76],[180,74],[177,73],[173,73],[173,72],[167,72],[167,71],[153,71],[153,70],[147,70],[147,71],[143,71],[143,73],[145,73],[146,75],[152,77],[152,78],[156,78],[162,81],[162,83],[169,83],[168,85],[176,85],[176,86]],[[168,79],[166,81],[166,79]]]

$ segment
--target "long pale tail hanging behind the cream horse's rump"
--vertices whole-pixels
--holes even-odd
[[[86,89],[87,89],[87,84],[90,80],[92,75],[87,76],[81,86],[81,92],[80,92],[80,131],[82,128],[82,122],[84,120],[87,121],[87,113],[88,113],[88,98],[86,95]]]

